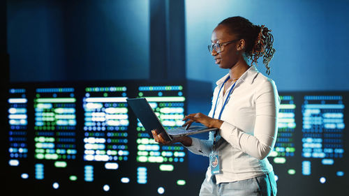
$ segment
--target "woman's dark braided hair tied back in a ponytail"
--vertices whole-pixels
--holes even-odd
[[[228,17],[218,25],[228,27],[230,33],[237,35],[237,38],[244,39],[245,56],[253,63],[257,63],[260,56],[263,56],[263,63],[267,68],[267,75],[270,74],[269,62],[274,56],[275,49],[273,47],[274,37],[272,30],[265,25],[254,25],[244,17]]]

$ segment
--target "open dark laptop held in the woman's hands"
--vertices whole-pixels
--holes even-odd
[[[135,113],[135,116],[138,117],[140,123],[142,123],[145,130],[147,130],[151,136],[151,130],[156,129],[158,134],[161,134],[165,140],[170,141],[173,140],[174,137],[182,137],[186,135],[194,135],[212,130],[218,130],[218,128],[207,128],[206,126],[190,126],[188,129],[180,127],[165,130],[146,98],[127,98],[126,100],[128,105],[130,105],[131,109]]]

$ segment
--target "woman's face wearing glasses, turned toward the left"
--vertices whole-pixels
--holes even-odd
[[[226,43],[232,40],[237,40],[237,37],[229,33],[228,28],[224,25],[218,25],[212,32],[212,43]],[[239,60],[239,51],[237,51],[237,43],[226,43],[221,45],[221,52],[217,53],[212,51],[211,55],[214,56],[215,63],[220,68],[229,69],[235,66]]]

